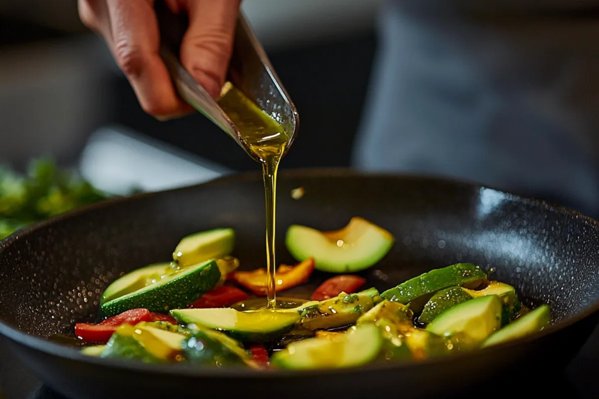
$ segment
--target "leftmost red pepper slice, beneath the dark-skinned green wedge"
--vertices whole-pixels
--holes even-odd
[[[114,331],[123,324],[135,325],[142,321],[150,321],[152,316],[147,309],[131,309],[106,319],[99,324],[77,323],[75,335],[85,342],[107,343]]]

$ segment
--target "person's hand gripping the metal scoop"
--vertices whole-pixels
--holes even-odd
[[[131,83],[141,108],[154,117],[183,116],[192,108],[177,96],[159,55],[160,33],[153,0],[78,0],[79,16],[98,32]],[[220,95],[241,0],[166,0],[174,13],[189,14],[181,63],[213,98]]]

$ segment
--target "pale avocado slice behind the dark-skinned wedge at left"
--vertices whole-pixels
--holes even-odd
[[[167,275],[173,270],[173,264],[171,263],[150,264],[150,266],[133,270],[108,285],[108,288],[106,288],[102,294],[101,303],[106,303],[147,287],[148,285],[159,281],[162,276]]]

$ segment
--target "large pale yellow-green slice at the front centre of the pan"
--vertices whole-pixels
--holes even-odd
[[[271,365],[294,370],[362,366],[374,361],[382,346],[379,328],[365,324],[338,337],[294,342],[285,350],[276,352]]]

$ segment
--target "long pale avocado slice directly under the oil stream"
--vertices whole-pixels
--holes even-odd
[[[291,330],[299,321],[299,307],[294,309],[239,310],[231,307],[210,309],[175,309],[171,316],[187,324],[223,331],[242,342],[268,342]]]

